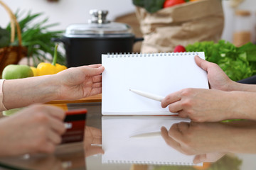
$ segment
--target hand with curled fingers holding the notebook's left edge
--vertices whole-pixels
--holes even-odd
[[[58,99],[75,100],[100,94],[104,67],[101,64],[73,67],[53,75],[59,84]]]

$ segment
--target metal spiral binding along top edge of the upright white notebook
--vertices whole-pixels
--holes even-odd
[[[107,57],[108,58],[114,58],[114,57],[162,57],[162,56],[182,56],[182,55],[199,55],[198,52],[160,52],[160,53],[118,53],[116,52],[114,54],[114,52],[112,52],[110,54],[110,52],[107,53]]]

